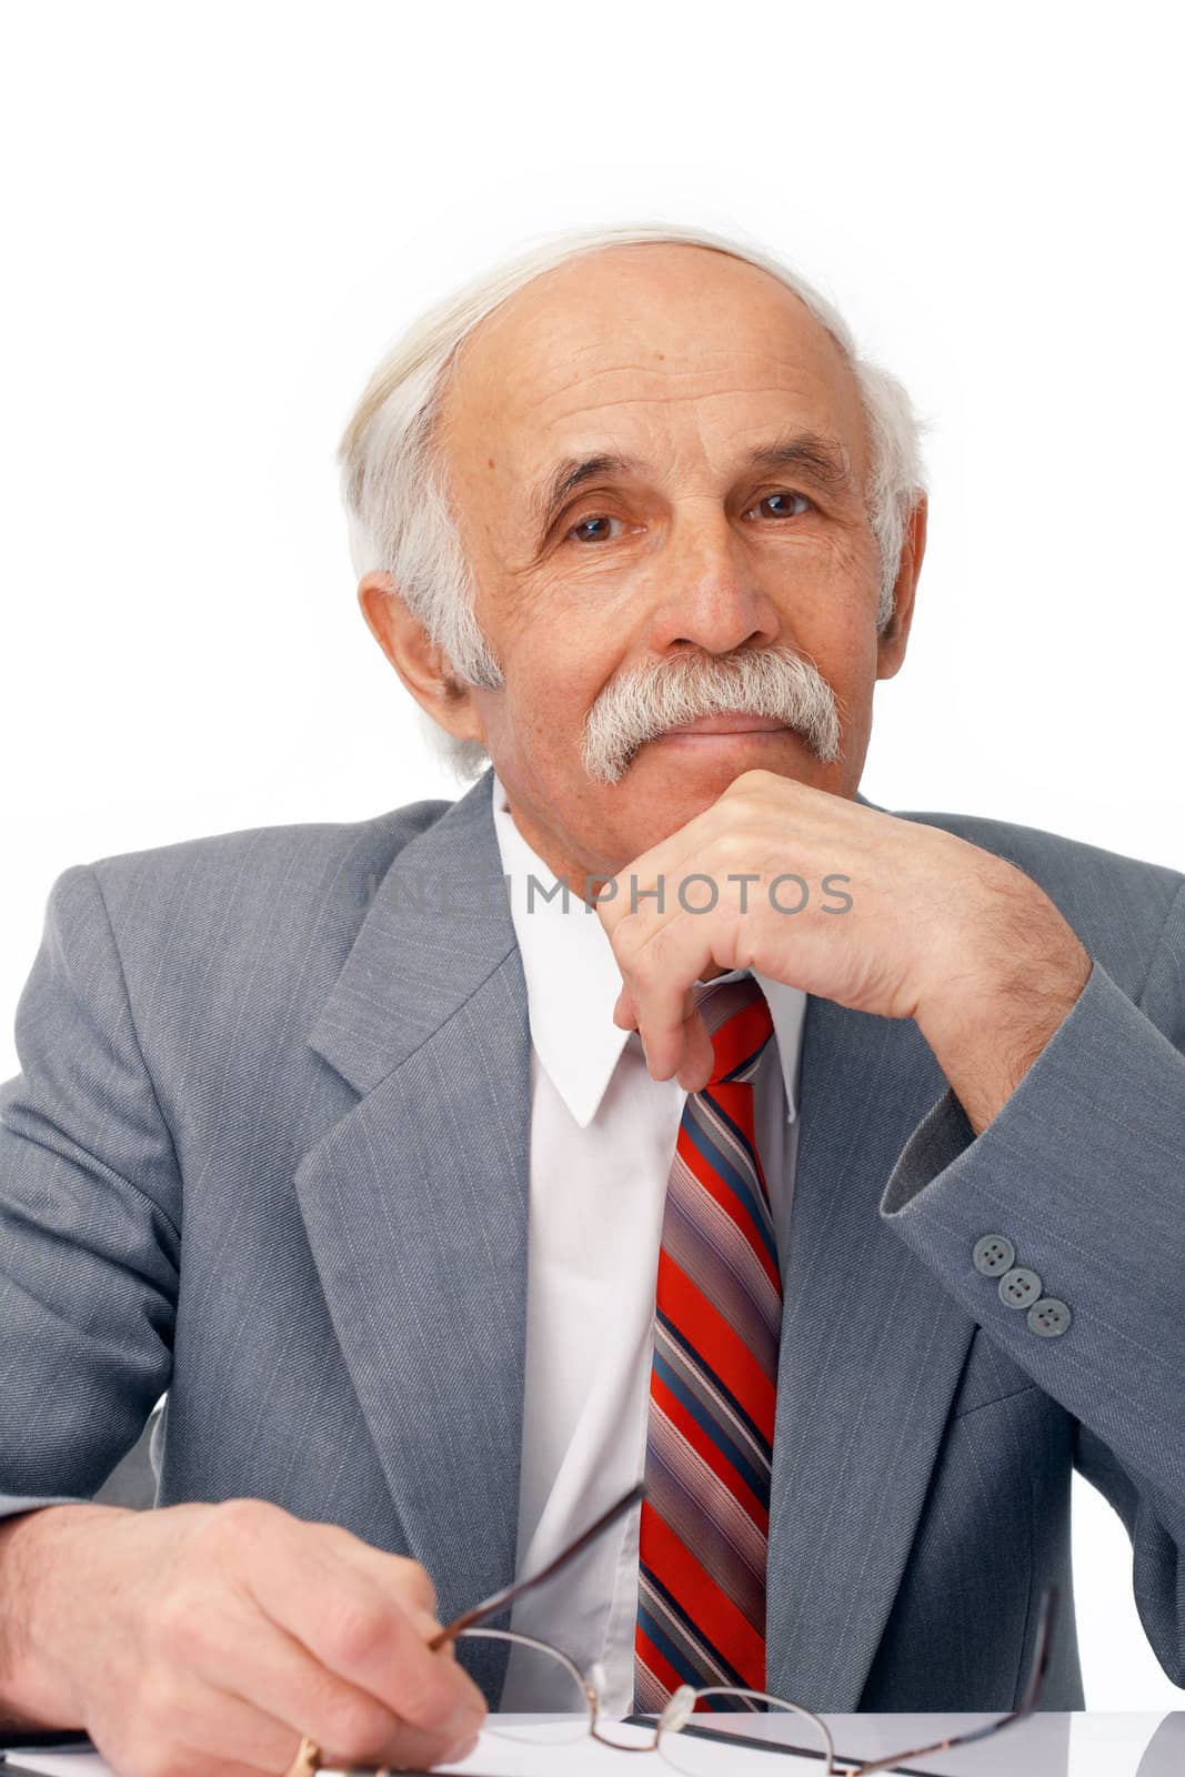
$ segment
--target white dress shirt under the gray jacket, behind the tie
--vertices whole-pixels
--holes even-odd
[[[531,849],[494,773],[494,828],[508,878],[531,1025],[526,1397],[517,1574],[544,1567],[645,1470],[654,1287],[666,1180],[686,1102],[650,1077],[636,1031],[613,1024],[622,974],[592,906],[547,899],[556,876]],[[531,883],[533,878],[533,883]],[[670,885],[677,890],[677,883]],[[739,979],[732,970],[718,979]],[[775,1040],[753,1075],[753,1114],[778,1251],[798,1150],[805,995],[757,976]],[[574,1566],[519,1599],[512,1628],[561,1647],[632,1708],[638,1519],[631,1512]],[[535,1661],[531,1661],[535,1667]],[[505,1709],[540,1695],[512,1649]]]

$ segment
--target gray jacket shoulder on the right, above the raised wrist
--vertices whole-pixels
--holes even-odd
[[[1167,864],[1110,851],[1041,826],[949,810],[885,812],[940,826],[1014,864],[1048,894],[1087,949],[1110,956],[1117,967],[1125,954],[1132,963],[1148,956],[1185,887],[1185,874]]]

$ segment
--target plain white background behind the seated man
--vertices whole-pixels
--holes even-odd
[[[334,450],[421,306],[593,220],[766,240],[931,423],[919,611],[865,793],[1185,867],[1169,20],[9,12],[0,1004],[68,864],[458,794],[357,610]],[[1075,1557],[1089,1706],[1180,1706],[1086,1486]]]

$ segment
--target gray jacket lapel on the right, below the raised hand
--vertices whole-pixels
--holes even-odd
[[[766,1681],[814,1709],[860,1706],[975,1331],[879,1215],[897,1155],[945,1089],[911,1018],[808,995]]]

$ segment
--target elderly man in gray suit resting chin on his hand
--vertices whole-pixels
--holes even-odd
[[[361,606],[492,766],[53,885],[0,1130],[9,1722],[137,1773],[448,1757],[554,1697],[437,1624],[643,1475],[510,1617],[609,1711],[1009,1709],[1050,1582],[1080,1706],[1075,1466],[1185,1683],[1185,878],[860,794],[917,430],[696,231],[563,236],[380,366]],[[156,1510],[89,1503],[165,1390]]]

